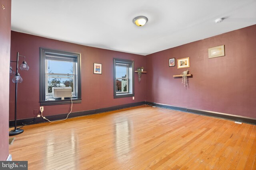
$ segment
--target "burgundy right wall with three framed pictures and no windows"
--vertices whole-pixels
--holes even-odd
[[[226,56],[208,59],[208,48],[225,45]],[[189,88],[168,59],[190,57]],[[256,118],[256,25],[146,56],[146,101]]]

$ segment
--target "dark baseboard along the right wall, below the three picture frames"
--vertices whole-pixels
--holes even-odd
[[[256,119],[250,118],[250,117],[245,117],[245,116],[231,115],[231,114],[220,113],[220,112],[215,112],[215,111],[190,109],[190,108],[186,108],[186,107],[170,106],[170,105],[159,104],[159,103],[154,103],[154,102],[146,102],[146,104],[150,104],[150,105],[156,106],[156,107],[162,107],[162,108],[165,108],[165,109],[184,111],[184,112],[187,112],[187,113],[205,115],[205,116],[210,116],[210,117],[216,117],[216,118],[221,118],[221,119],[226,119],[226,120],[231,120],[231,121],[238,121],[238,122],[243,122],[243,123],[249,123],[249,124],[252,124],[252,125],[256,125]]]

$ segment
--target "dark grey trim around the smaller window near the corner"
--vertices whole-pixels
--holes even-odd
[[[117,93],[116,92],[116,61],[120,61],[120,62],[124,62],[124,63],[128,63],[128,64],[131,64],[132,66],[132,74],[128,75],[128,76],[131,76],[131,77],[127,77],[128,79],[132,80],[132,92],[128,92],[128,93]],[[117,59],[117,58],[114,58],[113,59],[113,82],[114,82],[114,99],[115,98],[128,98],[128,97],[134,97],[134,61],[132,60],[124,60],[124,59]],[[129,72],[129,71],[128,71]],[[129,86],[129,84],[128,84]],[[130,89],[130,87],[127,87],[128,89]]]

